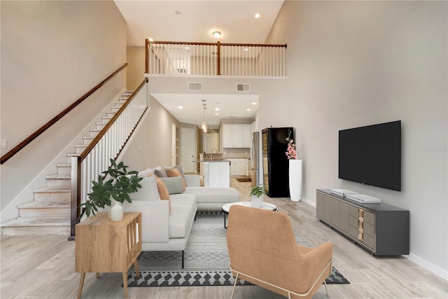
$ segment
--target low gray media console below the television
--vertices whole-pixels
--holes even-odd
[[[316,190],[316,216],[376,256],[409,254],[409,211],[390,204],[360,204]]]

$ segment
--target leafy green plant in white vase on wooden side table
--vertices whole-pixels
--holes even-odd
[[[138,188],[141,188],[140,181],[143,178],[138,176],[137,171],[127,172],[127,167],[123,162],[116,163],[111,159],[111,166],[104,172],[104,177],[109,175],[111,179],[104,181],[103,176],[99,175],[97,181],[92,181],[92,192],[88,193],[89,200],[80,204],[85,207],[85,214],[95,214],[98,208],[104,208],[106,206],[112,206],[112,199],[115,202],[123,204],[125,200],[132,202],[130,193],[137,192]],[[123,207],[121,205],[111,208],[111,220],[120,221],[123,218]],[[120,216],[121,215],[121,216]]]

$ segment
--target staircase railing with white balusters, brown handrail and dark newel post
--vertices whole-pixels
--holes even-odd
[[[80,204],[87,200],[87,193],[92,190],[92,181],[96,181],[98,176],[109,167],[111,158],[118,157],[148,109],[147,83],[148,78],[145,78],[83,153],[71,157],[70,238],[75,236],[75,225],[82,214]]]

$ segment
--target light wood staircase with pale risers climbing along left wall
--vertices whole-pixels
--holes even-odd
[[[90,130],[90,135],[83,137],[83,144],[76,144],[76,152],[67,153],[67,162],[57,165],[57,174],[45,177],[45,187],[33,190],[34,200],[18,205],[18,218],[1,223],[1,235],[70,235],[70,157],[85,150],[130,95],[132,92],[125,92],[102,117],[102,122]]]

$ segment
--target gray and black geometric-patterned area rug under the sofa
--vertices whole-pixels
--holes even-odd
[[[185,250],[184,269],[181,251],[144,251],[138,259],[141,275],[137,277],[135,271],[130,272],[128,286],[232,286],[235,278],[228,268],[226,231],[221,211],[198,212]],[[295,239],[299,244],[311,246],[297,232]],[[335,267],[326,282],[349,284]],[[251,283],[240,280],[238,284]]]

